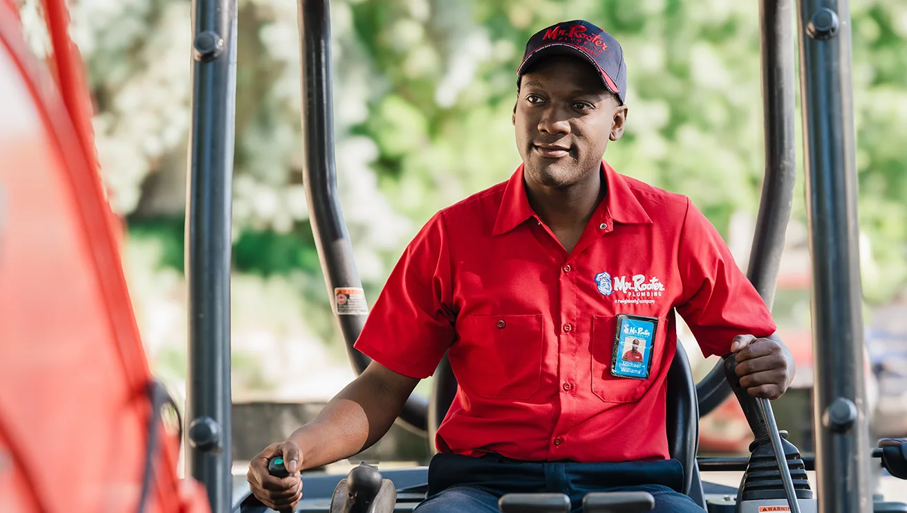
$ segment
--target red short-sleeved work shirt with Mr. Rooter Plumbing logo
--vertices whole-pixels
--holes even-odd
[[[459,390],[438,450],[516,460],[668,459],[675,311],[707,356],[775,323],[688,198],[602,165],[607,195],[568,253],[512,178],[438,212],[395,266],[356,348]],[[611,374],[617,315],[658,318],[649,378]],[[619,353],[617,353],[619,354]]]

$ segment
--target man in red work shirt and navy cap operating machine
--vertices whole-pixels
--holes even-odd
[[[688,198],[601,160],[627,121],[618,42],[585,21],[553,25],[529,41],[518,76],[523,164],[406,248],[356,342],[374,362],[250,463],[269,507],[302,493],[297,474],[268,476],[269,457],[296,473],[366,449],[445,352],[460,389],[420,513],[491,513],[504,493],[543,491],[579,510],[585,493],[619,489],[649,491],[656,511],[701,512],[668,455],[675,311],[706,355],[736,353],[751,395],[785,392],[791,355],[714,227]],[[648,369],[612,365],[620,333],[647,344]],[[610,441],[628,430],[639,436]]]

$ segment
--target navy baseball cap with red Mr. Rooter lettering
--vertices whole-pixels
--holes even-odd
[[[598,26],[585,20],[562,22],[543,28],[526,44],[526,53],[516,74],[526,70],[542,57],[550,55],[579,55],[594,65],[601,82],[623,104],[627,94],[627,64],[618,40]]]

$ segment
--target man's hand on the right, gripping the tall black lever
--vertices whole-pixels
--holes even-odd
[[[774,335],[770,338],[737,335],[731,353],[735,353],[740,386],[753,397],[777,399],[794,379],[794,358]]]

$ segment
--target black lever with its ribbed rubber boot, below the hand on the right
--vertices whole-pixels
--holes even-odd
[[[756,436],[749,447],[751,454],[743,486],[737,492],[737,510],[745,511],[745,503],[750,502],[760,506],[786,504],[790,511],[799,513],[804,509],[800,508],[802,501],[813,499],[800,450],[786,440],[786,431],[778,431],[771,403],[767,399],[756,399],[743,389],[736,375],[736,365],[733,354],[724,358],[727,382]],[[784,502],[778,502],[780,500]]]

